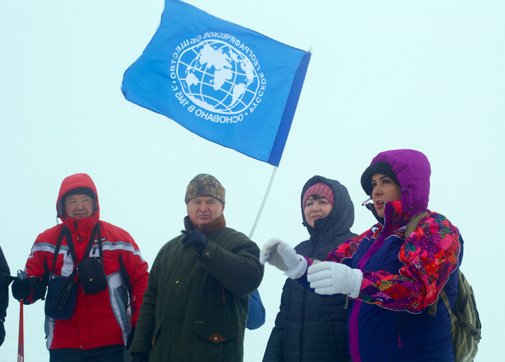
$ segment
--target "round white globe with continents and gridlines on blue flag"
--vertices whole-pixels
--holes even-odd
[[[221,40],[205,40],[184,50],[176,71],[189,100],[223,115],[244,112],[259,89],[259,76],[249,58]]]

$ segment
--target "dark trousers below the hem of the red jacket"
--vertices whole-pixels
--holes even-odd
[[[49,349],[49,362],[123,362],[123,345],[93,349]]]

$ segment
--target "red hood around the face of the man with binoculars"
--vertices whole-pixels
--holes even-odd
[[[95,214],[88,216],[87,218],[81,218],[80,220],[76,218],[67,218],[66,214],[64,214],[64,199],[62,199],[66,192],[69,192],[71,189],[75,189],[76,187],[89,187],[95,193]],[[97,188],[95,187],[93,180],[91,180],[91,177],[85,173],[76,173],[75,175],[65,177],[63,182],[61,182],[61,187],[59,188],[56,209],[58,217],[61,218],[61,221],[63,221],[67,227],[73,229],[77,228],[77,223],[81,225],[81,227],[84,227],[89,223],[91,228],[93,228],[100,218],[100,204],[98,203]],[[73,222],[71,223],[70,221]],[[71,224],[73,227],[71,227]]]

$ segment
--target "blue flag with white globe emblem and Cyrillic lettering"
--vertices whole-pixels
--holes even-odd
[[[209,141],[278,166],[310,56],[165,0],[160,27],[121,91]]]

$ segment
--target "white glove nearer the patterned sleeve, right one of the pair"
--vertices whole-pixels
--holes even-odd
[[[318,294],[349,294],[351,298],[360,295],[363,273],[336,262],[319,262],[307,270],[307,281]]]

